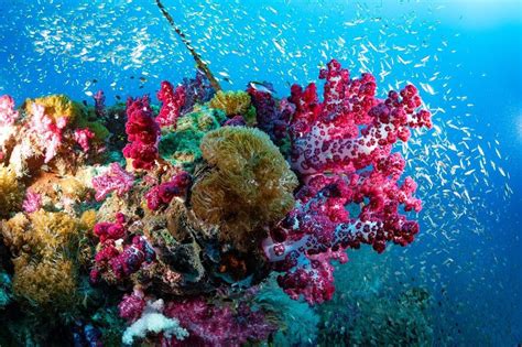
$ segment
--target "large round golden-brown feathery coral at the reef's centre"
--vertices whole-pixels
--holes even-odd
[[[209,169],[195,180],[196,216],[219,226],[220,238],[238,249],[257,246],[264,225],[283,218],[294,205],[297,177],[270,138],[258,129],[225,127],[200,144]]]

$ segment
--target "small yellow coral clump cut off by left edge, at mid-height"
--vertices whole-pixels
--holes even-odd
[[[23,185],[11,166],[0,165],[0,218],[21,208]]]

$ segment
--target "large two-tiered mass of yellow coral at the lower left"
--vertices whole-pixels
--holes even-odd
[[[2,224],[2,236],[15,257],[13,291],[30,303],[67,308],[75,303],[80,231],[79,221],[64,213],[18,214]],[[85,223],[85,225],[84,225]]]

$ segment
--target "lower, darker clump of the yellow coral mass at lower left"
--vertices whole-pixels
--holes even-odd
[[[44,259],[34,262],[28,256],[13,259],[13,292],[39,306],[52,304],[70,308],[76,300],[76,269],[70,260]]]

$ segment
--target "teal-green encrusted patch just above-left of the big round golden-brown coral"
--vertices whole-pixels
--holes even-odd
[[[199,142],[210,130],[226,119],[221,110],[202,107],[177,120],[174,131],[164,133],[160,141],[160,155],[175,166],[193,172],[202,159]]]

